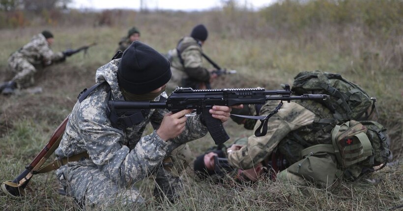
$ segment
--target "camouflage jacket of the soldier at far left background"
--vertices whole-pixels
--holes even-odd
[[[54,53],[46,38],[41,34],[32,37],[31,41],[10,57],[25,58],[31,64],[50,65],[52,62],[64,59],[61,52]],[[14,59],[15,60],[15,59]]]

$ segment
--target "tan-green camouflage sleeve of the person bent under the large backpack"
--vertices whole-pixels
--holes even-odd
[[[269,114],[278,104],[279,101],[268,101],[262,106],[260,115]],[[236,168],[253,168],[273,152],[288,132],[312,124],[314,119],[315,114],[305,107],[294,102],[285,103],[279,112],[269,119],[267,134],[261,137],[250,136],[247,145],[228,155],[228,161]],[[254,131],[259,125],[260,122],[255,125]]]

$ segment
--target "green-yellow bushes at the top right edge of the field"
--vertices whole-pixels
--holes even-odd
[[[291,32],[329,24],[394,30],[402,24],[402,9],[401,0],[280,0],[260,13],[266,21]]]

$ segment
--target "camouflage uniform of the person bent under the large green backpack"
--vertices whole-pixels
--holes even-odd
[[[269,114],[278,104],[279,101],[268,101],[262,106],[260,115]],[[317,182],[324,177],[327,178],[329,184],[320,185],[331,185],[338,174],[334,154],[318,153],[301,159],[300,153],[301,150],[313,145],[332,143],[329,133],[317,132],[322,127],[317,123],[318,119],[332,118],[333,116],[327,108],[313,101],[285,103],[279,112],[269,119],[267,134],[262,137],[250,136],[248,144],[240,150],[230,153],[228,160],[236,168],[249,169],[256,163],[265,160],[278,148],[280,153],[286,155],[288,163],[294,163],[279,173],[280,180],[292,180],[300,185],[305,185],[305,179]],[[256,124],[255,130],[259,124],[260,122]],[[300,163],[302,163],[302,167],[298,165]],[[310,165],[310,163],[325,165]],[[320,169],[318,169],[319,166]]]

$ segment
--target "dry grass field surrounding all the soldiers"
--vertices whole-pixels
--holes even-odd
[[[97,26],[93,16],[83,23],[66,26],[26,26],[0,29],[0,81],[10,79],[7,59],[32,35],[43,29],[55,35],[54,51],[77,48],[92,42],[97,46],[73,55],[64,63],[41,69],[36,84],[40,94],[21,92],[0,96],[0,181],[14,179],[49,141],[59,123],[68,115],[76,97],[94,83],[95,71],[111,60],[119,39],[133,25],[140,28],[141,40],[161,53],[175,47],[191,28],[204,23],[209,29],[203,51],[220,66],[238,74],[218,79],[214,87],[280,88],[291,83],[300,71],[322,70],[342,74],[360,84],[377,98],[377,121],[388,128],[393,159],[379,172],[356,182],[338,181],[332,189],[301,187],[263,181],[252,187],[228,189],[196,183],[184,175],[185,193],[175,204],[152,199],[152,180],[138,186],[144,197],[139,210],[399,210],[403,209],[403,34],[402,25],[392,32],[372,31],[356,23],[320,25],[290,33],[276,28],[256,13],[208,11],[202,13],[128,13],[113,16],[115,24]],[[206,64],[206,66],[208,66]],[[229,121],[232,138],[251,132]],[[190,143],[195,156],[213,146],[211,137]],[[26,188],[28,195],[12,200],[0,194],[0,209],[79,210],[71,198],[58,194],[54,173],[35,175]],[[399,208],[400,207],[400,208]],[[99,208],[128,210],[122,206]],[[94,209],[97,210],[97,209]]]

